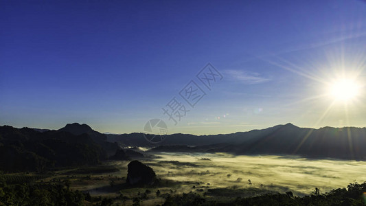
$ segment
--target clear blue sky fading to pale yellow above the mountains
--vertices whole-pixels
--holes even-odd
[[[0,1],[0,125],[217,134],[366,126],[365,1]],[[196,74],[223,78],[209,91]],[[352,102],[328,83],[354,78]],[[194,108],[179,91],[194,80]],[[174,122],[176,97],[190,111]],[[218,118],[220,117],[220,118]]]

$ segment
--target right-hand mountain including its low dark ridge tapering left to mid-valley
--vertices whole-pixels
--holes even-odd
[[[192,135],[186,135],[190,139]],[[172,137],[172,139],[170,139]],[[293,124],[278,125],[263,130],[251,130],[246,133],[227,135],[196,136],[187,145],[182,146],[185,135],[168,135],[162,146],[153,148],[153,152],[230,152],[236,155],[299,155],[309,158],[335,158],[366,160],[366,128],[299,128]],[[210,140],[207,139],[210,137]],[[170,140],[169,140],[170,139]],[[203,142],[225,144],[200,146]],[[166,145],[176,142],[177,146]]]

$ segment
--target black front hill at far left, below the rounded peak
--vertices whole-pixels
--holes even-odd
[[[5,172],[93,165],[100,159],[106,159],[105,151],[85,133],[0,126],[0,170]]]

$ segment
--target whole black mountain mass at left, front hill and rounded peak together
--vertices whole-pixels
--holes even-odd
[[[112,155],[117,160],[127,160],[128,155],[144,157],[135,151],[128,151],[126,155],[117,143],[108,142],[106,138],[86,124],[67,124],[59,130],[0,126],[0,170],[45,172],[98,165]]]

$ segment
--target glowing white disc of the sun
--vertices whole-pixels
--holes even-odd
[[[330,84],[330,94],[336,100],[348,102],[358,95],[359,86],[352,79],[338,79]]]

